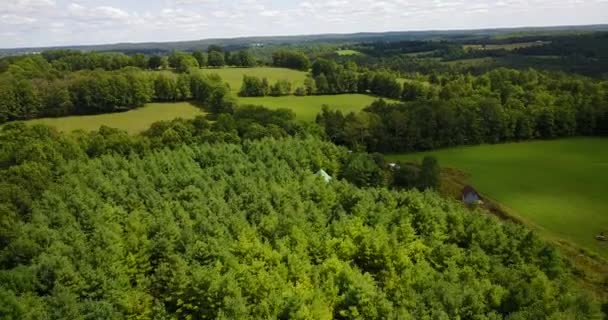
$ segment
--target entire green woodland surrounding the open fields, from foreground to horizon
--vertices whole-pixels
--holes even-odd
[[[441,198],[435,158],[378,152],[608,135],[605,36],[0,58],[0,318],[602,319],[553,244]],[[542,43],[485,47],[524,40]],[[577,70],[532,63],[556,54]],[[245,76],[240,96],[378,100],[299,122],[199,70],[264,65],[308,76]],[[139,135],[20,121],[176,101],[209,115]]]

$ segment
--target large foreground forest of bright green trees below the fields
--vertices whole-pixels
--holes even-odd
[[[0,127],[0,317],[602,317],[521,226],[340,179],[377,179],[373,156],[229,133],[287,118],[248,108],[142,136]]]

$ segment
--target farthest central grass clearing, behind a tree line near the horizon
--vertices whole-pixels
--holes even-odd
[[[292,87],[295,89],[298,86],[304,84],[306,79],[306,72],[285,69],[285,68],[271,68],[271,67],[258,67],[258,68],[220,68],[220,69],[201,69],[201,72],[205,74],[218,74],[224,82],[230,85],[230,89],[234,93],[238,93],[243,85],[243,76],[256,76],[260,78],[267,78],[270,84],[278,80],[288,80],[291,82]]]

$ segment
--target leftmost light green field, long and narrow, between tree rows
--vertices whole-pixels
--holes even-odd
[[[94,116],[71,116],[62,118],[44,118],[29,120],[29,124],[46,124],[56,127],[59,131],[74,130],[94,131],[102,125],[126,130],[129,133],[139,133],[157,121],[173,120],[175,118],[192,119],[205,113],[187,102],[150,103],[143,108],[122,113],[109,113]]]

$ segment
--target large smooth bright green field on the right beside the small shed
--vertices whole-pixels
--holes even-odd
[[[608,258],[608,139],[484,145],[433,154],[442,166],[470,175],[469,183],[551,238],[564,239]],[[422,153],[392,155],[419,160]]]

